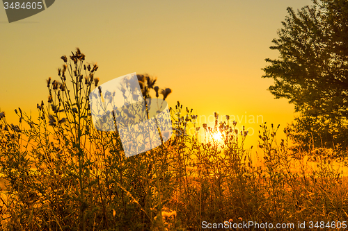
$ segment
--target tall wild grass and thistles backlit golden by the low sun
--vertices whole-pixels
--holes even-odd
[[[347,221],[343,172],[320,155],[310,169],[305,153],[290,150],[289,130],[277,142],[279,126],[260,125],[260,144],[248,149],[248,132],[228,116],[215,113],[214,127],[200,127],[193,110],[177,102],[171,139],[126,158],[118,132],[98,131],[91,121],[88,96],[99,83],[97,65],[86,65],[79,49],[62,60],[58,80],[47,80],[49,96],[38,103],[38,118],[18,108],[19,124],[13,125],[0,113],[1,230]],[[139,81],[144,98],[159,97],[153,78]]]

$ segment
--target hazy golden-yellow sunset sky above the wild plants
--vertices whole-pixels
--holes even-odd
[[[214,112],[228,114],[249,130],[246,144],[255,145],[260,123],[283,130],[294,119],[294,106],[267,91],[273,80],[261,78],[262,68],[265,58],[278,58],[269,46],[287,7],[311,4],[57,0],[13,23],[0,9],[0,110],[8,121],[17,121],[15,108],[35,112],[36,103],[47,102],[46,79],[58,79],[61,55],[79,47],[86,62],[97,62],[100,84],[133,72],[157,77],[160,88],[173,91],[170,106],[193,108],[200,123]]]

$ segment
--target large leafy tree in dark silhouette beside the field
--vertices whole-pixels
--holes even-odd
[[[345,150],[348,146],[348,1],[313,0],[294,12],[287,8],[283,28],[270,49],[278,59],[262,78],[276,99],[289,99],[300,116],[292,124],[295,142]],[[311,142],[310,142],[311,141]]]

